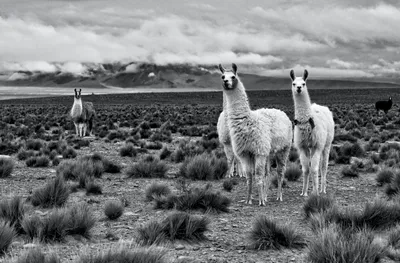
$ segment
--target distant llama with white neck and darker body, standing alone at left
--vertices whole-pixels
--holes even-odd
[[[93,120],[95,118],[96,112],[93,108],[93,103],[82,102],[81,92],[82,89],[79,89],[79,91],[75,89],[74,104],[72,105],[70,115],[72,120],[74,121],[76,134],[79,137],[86,136],[87,128],[89,128],[90,136],[93,136]]]

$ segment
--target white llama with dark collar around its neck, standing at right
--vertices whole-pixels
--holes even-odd
[[[311,104],[306,80],[308,71],[303,77],[296,77],[290,71],[292,95],[294,101],[294,145],[299,150],[303,170],[302,196],[307,196],[309,176],[313,180],[312,193],[318,192],[318,173],[321,175],[321,192],[326,193],[326,173],[328,170],[329,152],[331,149],[335,123],[328,107]]]

